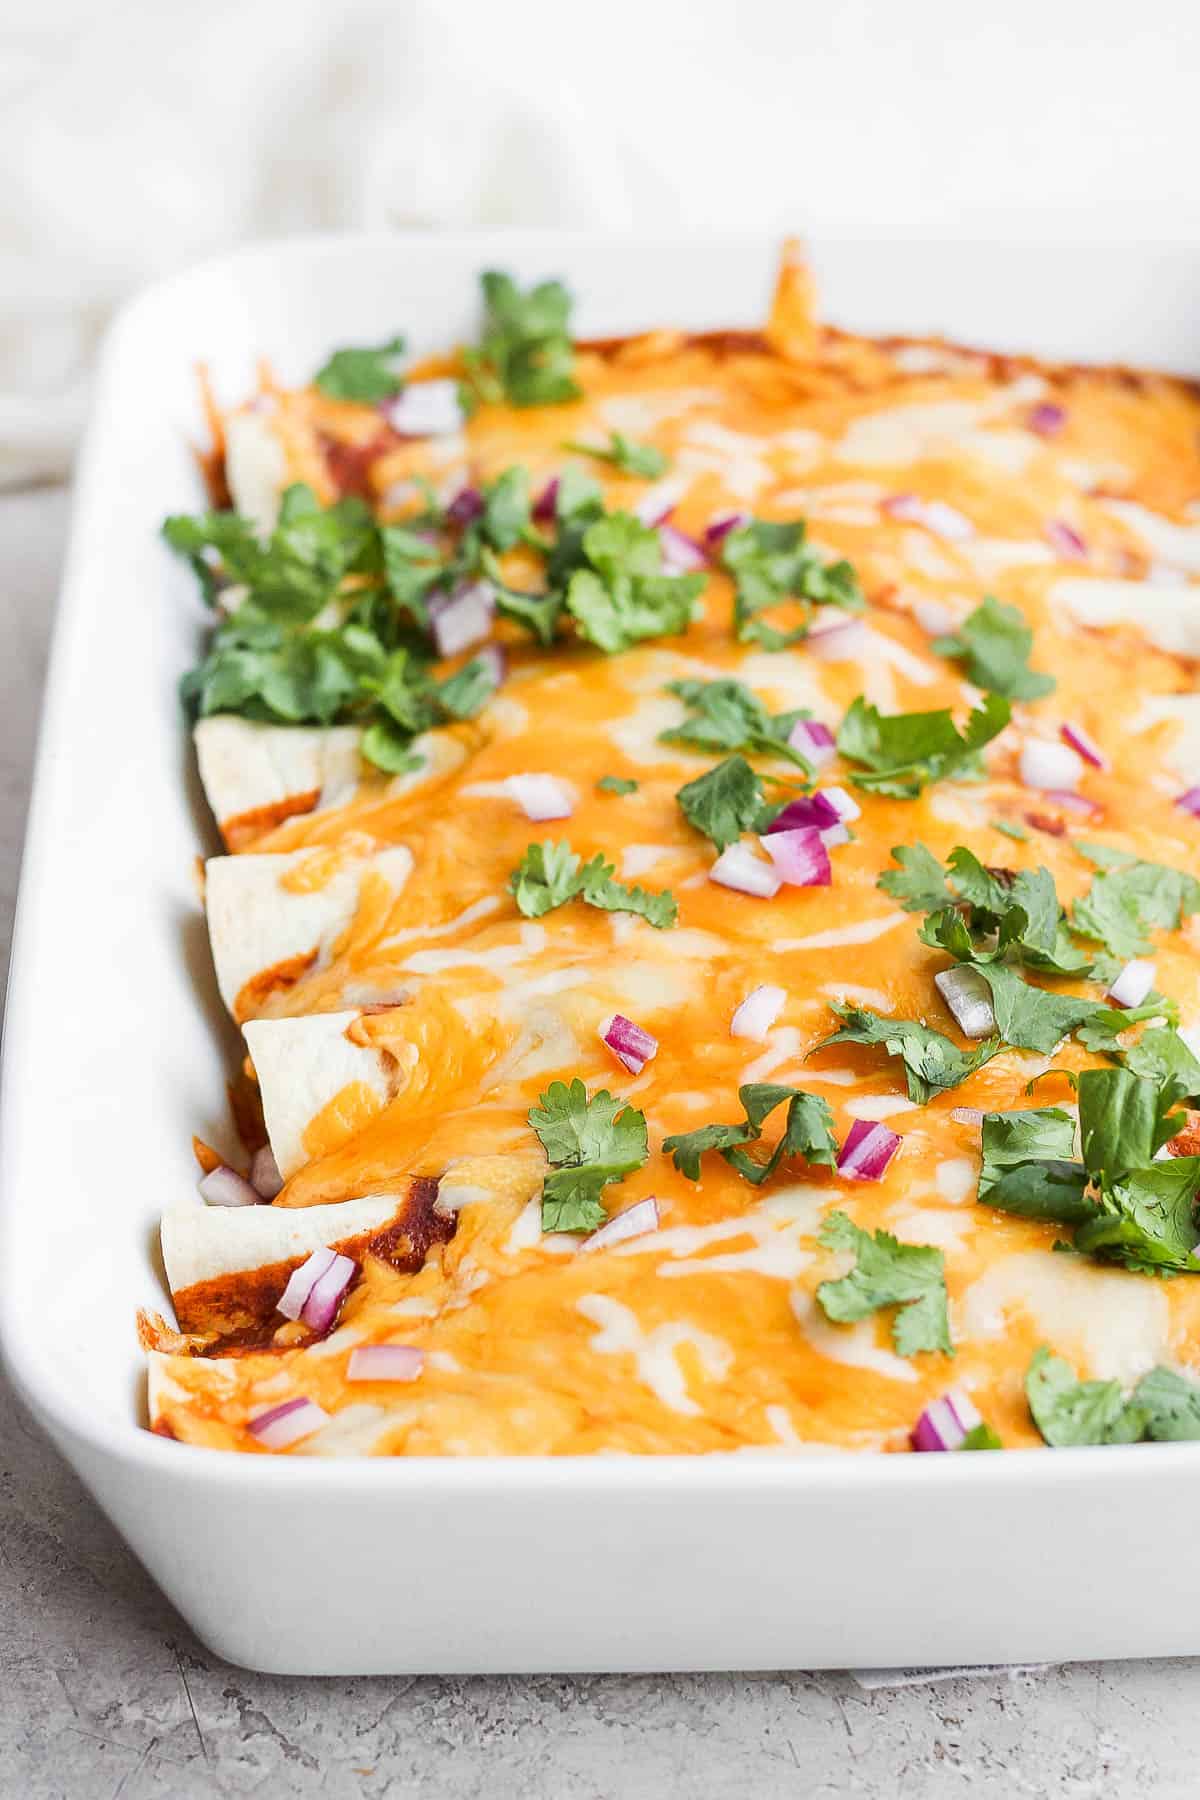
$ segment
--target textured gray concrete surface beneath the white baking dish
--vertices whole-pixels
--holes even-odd
[[[56,491],[0,497],[0,959],[65,517]],[[1166,1800],[1200,1793],[1198,1760],[1200,1660],[883,1692],[802,1672],[299,1681],[230,1669],[0,1382],[5,1800]]]

